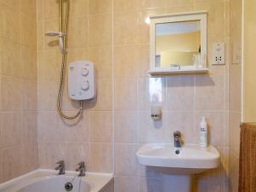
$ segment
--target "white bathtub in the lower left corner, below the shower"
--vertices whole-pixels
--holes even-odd
[[[113,175],[88,173],[85,177],[75,177],[78,172],[56,175],[51,170],[36,170],[0,184],[0,192],[67,192],[65,184],[71,182],[70,192],[113,192]]]

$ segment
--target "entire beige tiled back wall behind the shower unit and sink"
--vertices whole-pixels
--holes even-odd
[[[218,170],[195,177],[195,191],[227,191],[229,156],[230,1],[227,0],[73,0],[69,25],[68,61],[96,64],[98,92],[84,102],[78,122],[65,122],[55,112],[61,54],[55,38],[58,3],[38,0],[38,144],[41,167],[67,161],[73,170],[79,160],[92,172],[115,172],[117,192],[161,191],[163,175],[139,166],[136,150],[143,143],[172,142],[172,131],[185,143],[197,143],[199,121],[210,124],[210,143],[219,149]],[[209,75],[177,75],[150,79],[148,15],[208,11],[208,51],[212,43],[227,45],[224,66],[209,65]],[[162,95],[163,119],[150,119],[153,84]],[[63,109],[74,113],[76,102],[63,96]]]

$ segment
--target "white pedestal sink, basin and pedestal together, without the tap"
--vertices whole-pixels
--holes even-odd
[[[185,145],[174,148],[168,143],[149,143],[137,150],[137,161],[164,172],[165,192],[189,192],[190,176],[219,165],[218,150],[212,146],[201,148]]]

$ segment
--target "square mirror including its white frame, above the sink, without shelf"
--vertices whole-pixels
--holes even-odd
[[[151,71],[207,68],[206,13],[160,15],[151,22]]]

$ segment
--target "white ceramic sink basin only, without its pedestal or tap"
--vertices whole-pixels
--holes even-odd
[[[159,167],[171,174],[190,175],[217,168],[219,153],[212,146],[174,148],[173,144],[149,143],[137,150],[137,161],[143,166]]]

